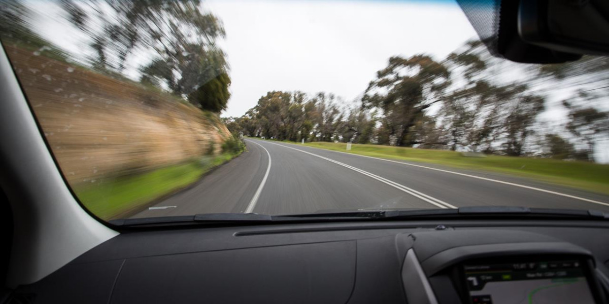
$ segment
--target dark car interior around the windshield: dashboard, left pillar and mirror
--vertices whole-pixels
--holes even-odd
[[[459,4],[495,56],[609,55],[605,0]],[[480,5],[493,5],[490,22],[472,9]],[[104,221],[68,186],[5,48],[0,96],[0,303],[608,303],[609,213],[482,206]]]

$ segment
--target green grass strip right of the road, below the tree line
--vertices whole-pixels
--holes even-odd
[[[604,164],[498,155],[465,157],[454,151],[356,143],[352,145],[351,151],[346,151],[347,143],[310,142],[305,143],[305,146],[385,159],[403,159],[456,168],[507,173],[537,181],[609,194],[609,165]]]

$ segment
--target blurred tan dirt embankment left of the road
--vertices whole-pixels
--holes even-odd
[[[72,185],[220,152],[216,114],[153,88],[7,47],[29,103]]]

